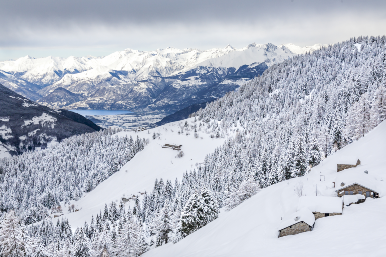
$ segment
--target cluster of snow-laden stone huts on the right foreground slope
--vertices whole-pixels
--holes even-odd
[[[337,172],[360,165],[338,164]],[[341,176],[347,183],[341,182],[336,186],[336,197],[327,196],[302,196],[299,198],[297,212],[283,220],[279,225],[279,237],[295,235],[312,231],[315,220],[322,217],[342,215],[343,207],[359,204],[366,198],[379,198],[376,186],[365,171],[358,176]],[[334,182],[335,186],[335,182]]]

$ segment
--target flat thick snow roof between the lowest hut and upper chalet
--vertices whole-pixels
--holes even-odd
[[[312,212],[342,213],[342,198],[328,196],[302,196],[299,198],[298,210],[308,208]]]

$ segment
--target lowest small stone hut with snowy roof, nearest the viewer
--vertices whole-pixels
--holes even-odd
[[[309,209],[303,208],[293,213],[288,218],[282,220],[278,229],[278,237],[311,231],[314,227],[314,224],[315,216]]]

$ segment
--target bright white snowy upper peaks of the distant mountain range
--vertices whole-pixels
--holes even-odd
[[[21,79],[38,84],[52,85],[61,80],[78,81],[90,79],[96,74],[98,67],[104,74],[107,70],[128,71],[130,80],[142,80],[148,76],[177,74],[197,66],[235,67],[266,62],[268,65],[280,62],[285,58],[313,51],[321,46],[299,47],[293,44],[276,46],[272,43],[252,43],[244,48],[227,45],[224,48],[212,48],[205,51],[188,48],[168,47],[155,51],[139,51],[127,48],[105,57],[74,57],[68,58],[48,56],[32,58],[25,56],[15,61],[0,62],[0,70],[17,75]],[[283,48],[284,47],[284,48]],[[92,72],[87,72],[93,70]],[[66,78],[65,78],[66,76]]]

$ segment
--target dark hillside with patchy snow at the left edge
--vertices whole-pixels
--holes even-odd
[[[83,116],[39,105],[0,85],[1,157],[45,148],[64,138],[100,130]]]

